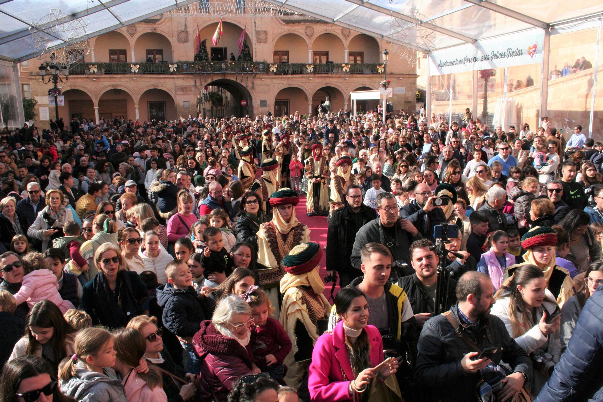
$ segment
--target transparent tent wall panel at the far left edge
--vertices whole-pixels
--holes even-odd
[[[0,124],[9,129],[23,126],[23,103],[17,65],[0,61]]]

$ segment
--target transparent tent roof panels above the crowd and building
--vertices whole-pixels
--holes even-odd
[[[51,3],[45,0],[0,0],[0,58],[20,62],[36,56],[28,30],[51,8],[59,9],[69,19],[80,19],[87,25],[87,37],[93,37],[193,2],[195,0],[57,0]],[[424,53],[534,27],[548,30],[567,22],[580,22],[603,14],[599,0],[582,0],[578,5],[561,0],[264,2]],[[404,27],[402,31],[400,26]],[[51,45],[61,46],[66,38],[64,35],[57,33]],[[426,36],[429,36],[428,42]]]

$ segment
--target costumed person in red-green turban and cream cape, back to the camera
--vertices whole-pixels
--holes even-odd
[[[318,243],[302,243],[283,258],[286,273],[280,279],[283,305],[279,321],[293,344],[285,357],[285,382],[295,389],[306,389],[307,384],[301,381],[308,373],[314,343],[329,322],[331,306],[323,296],[324,284],[318,273],[322,256]]]

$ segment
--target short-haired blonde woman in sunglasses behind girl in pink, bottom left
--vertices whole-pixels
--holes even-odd
[[[163,391],[168,397],[168,401],[189,400],[194,397],[196,388],[193,382],[183,383],[183,380],[194,381],[196,376],[186,372],[178,366],[167,348],[164,348],[163,337],[166,334],[163,328],[157,327],[157,318],[150,316],[136,316],[128,322],[126,328],[133,328],[139,331],[147,343],[144,358],[150,366],[157,366],[161,369],[163,379]]]

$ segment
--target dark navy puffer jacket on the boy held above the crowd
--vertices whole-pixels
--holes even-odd
[[[166,284],[163,289],[157,289],[157,304],[163,308],[163,325],[180,337],[193,336],[199,330],[201,321],[210,319],[201,310],[197,293],[188,289],[175,289]]]

